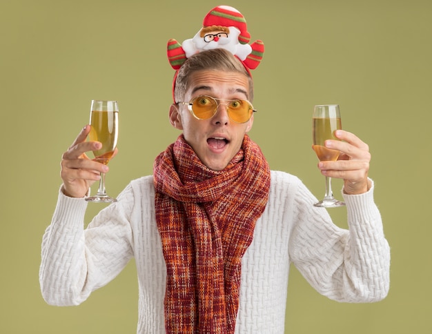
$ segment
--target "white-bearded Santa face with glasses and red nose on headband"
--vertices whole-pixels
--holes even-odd
[[[240,31],[237,28],[230,27],[227,34],[221,30],[207,32],[204,37],[199,36],[199,32],[193,37],[193,43],[198,50],[213,50],[223,48],[235,53],[237,44],[239,43]]]

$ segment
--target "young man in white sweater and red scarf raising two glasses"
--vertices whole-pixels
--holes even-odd
[[[343,230],[297,177],[271,171],[248,137],[253,83],[239,57],[224,48],[187,57],[173,97],[170,123],[181,135],[157,157],[154,175],[131,181],[86,230],[84,197],[108,168],[85,155],[100,146],[86,141],[89,126],[63,154],[63,185],[43,237],[48,303],[83,302],[132,257],[137,333],[284,333],[291,263],[331,299],[386,296],[389,246],[363,141],[340,130],[342,141],[327,146],[347,159],[320,164],[344,179]]]

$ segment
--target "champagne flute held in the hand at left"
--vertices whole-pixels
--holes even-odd
[[[114,154],[119,136],[119,106],[117,101],[92,100],[90,108],[90,141],[100,141],[102,148],[94,150],[95,161],[107,165]],[[110,203],[117,202],[117,199],[106,194],[105,173],[101,173],[97,194],[86,197],[88,202]]]

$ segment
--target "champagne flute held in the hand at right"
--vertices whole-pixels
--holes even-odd
[[[327,139],[338,140],[334,132],[342,128],[340,119],[340,110],[337,104],[325,104],[315,106],[313,109],[313,150],[317,154],[320,161],[336,161],[340,152],[338,150],[331,150],[324,146]],[[331,177],[326,176],[326,194],[324,199],[320,202],[313,204],[324,208],[335,208],[337,206],[344,206],[344,202],[340,202],[333,197],[331,190]]]

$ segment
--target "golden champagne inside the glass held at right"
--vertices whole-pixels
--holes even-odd
[[[313,118],[313,150],[320,161],[335,161],[339,157],[338,150],[324,147],[327,139],[337,139],[333,132],[341,129],[342,123],[339,118]]]

